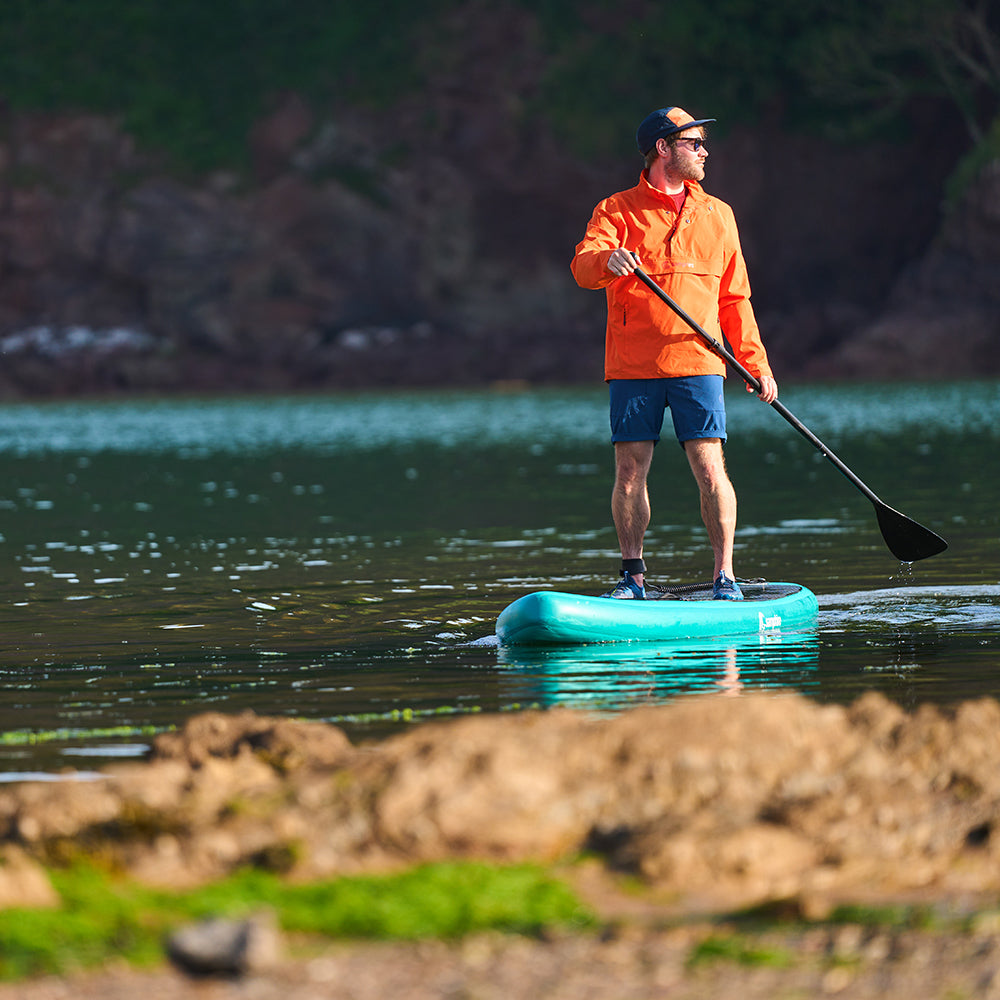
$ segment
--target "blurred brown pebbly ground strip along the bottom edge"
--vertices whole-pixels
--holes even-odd
[[[879,1000],[1000,997],[1000,937],[855,925],[743,934],[758,956],[692,962],[725,929],[630,927],[547,941],[495,934],[460,943],[337,944],[240,979],[171,968],[105,969],[0,986],[0,1000]]]

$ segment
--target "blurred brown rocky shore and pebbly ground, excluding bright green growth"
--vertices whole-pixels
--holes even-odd
[[[600,933],[336,944],[199,995],[697,997],[738,981],[746,997],[995,996],[998,758],[988,699],[906,713],[875,694],[690,698],[614,718],[469,717],[359,746],[324,724],[208,714],[100,781],[0,791],[0,899],[52,905],[46,866],[83,857],[174,887],[247,864],[310,880],[531,860],[558,867]],[[828,923],[845,904],[932,916]],[[792,923],[731,926],[746,908]],[[720,940],[736,951],[713,951]],[[362,974],[375,956],[383,971]],[[0,998],[153,1000],[183,982],[104,970]]]

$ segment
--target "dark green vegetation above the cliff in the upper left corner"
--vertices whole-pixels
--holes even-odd
[[[239,163],[276,94],[386,101],[411,85],[414,32],[430,7],[5,0],[0,93],[20,108],[119,115],[141,142],[193,169]]]

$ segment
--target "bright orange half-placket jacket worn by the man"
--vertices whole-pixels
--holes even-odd
[[[716,340],[725,334],[750,372],[771,375],[733,210],[696,181],[686,185],[678,216],[643,171],[634,188],[594,209],[577,244],[571,265],[577,284],[607,292],[605,379],[726,373],[725,362],[635,275],[617,277],[607,270],[617,247],[637,253],[642,269]]]

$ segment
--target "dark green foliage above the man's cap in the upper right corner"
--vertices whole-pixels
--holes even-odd
[[[991,0],[710,0],[632,18],[619,7],[587,5],[581,23],[600,30],[575,32],[561,2],[543,8],[554,54],[544,100],[591,147],[610,134],[616,148],[620,109],[634,121],[651,91],[711,113],[721,130],[771,118],[846,141],[905,134],[937,102],[954,108],[959,141],[978,143],[1000,106]]]

